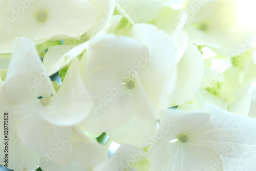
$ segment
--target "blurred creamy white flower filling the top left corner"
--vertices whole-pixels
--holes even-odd
[[[56,35],[77,37],[91,29],[96,22],[96,10],[88,0],[26,2],[26,8],[19,1],[13,3],[5,0],[0,6],[0,18],[5,21],[0,24],[1,31],[5,32],[0,36],[0,53],[11,52],[13,40],[19,36],[30,38],[36,44]],[[23,11],[22,14],[17,13],[18,10]],[[35,16],[40,11],[47,11],[47,19],[43,23],[38,22]]]

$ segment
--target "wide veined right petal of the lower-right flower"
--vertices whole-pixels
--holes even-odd
[[[224,112],[205,105],[203,111],[210,120],[189,132],[188,145],[204,145],[214,149],[223,162],[224,170],[251,170],[256,166],[256,120]]]

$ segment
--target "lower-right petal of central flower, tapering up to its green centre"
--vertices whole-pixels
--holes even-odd
[[[141,88],[139,80],[137,80],[137,86],[138,89],[134,90],[134,97],[132,97],[134,99],[135,113],[121,126],[106,133],[110,139],[118,144],[146,147],[146,139],[155,133],[156,117],[152,104],[145,91]],[[143,104],[141,103],[142,101]]]

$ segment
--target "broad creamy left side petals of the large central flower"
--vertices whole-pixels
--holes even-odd
[[[83,77],[95,105],[82,127],[98,133],[121,125],[134,113],[134,99],[123,83],[131,79],[133,68],[148,52],[132,38],[104,35],[92,41],[87,53]]]

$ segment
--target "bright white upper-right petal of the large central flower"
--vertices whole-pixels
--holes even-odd
[[[176,56],[173,55],[176,52],[175,43],[153,25],[136,24],[129,35],[142,42],[150,51],[149,62],[139,73],[141,83],[154,107],[166,109],[176,79]]]

